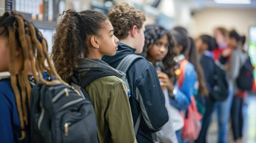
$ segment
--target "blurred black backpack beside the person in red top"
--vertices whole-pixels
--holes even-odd
[[[219,61],[214,64],[214,86],[212,86],[209,96],[214,101],[224,101],[229,97],[229,83],[227,82],[226,72]]]

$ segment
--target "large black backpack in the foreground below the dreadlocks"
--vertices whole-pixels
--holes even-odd
[[[31,142],[97,142],[95,120],[91,102],[71,86],[63,83],[36,83],[33,86],[30,100]]]

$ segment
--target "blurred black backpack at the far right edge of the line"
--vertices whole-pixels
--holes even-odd
[[[245,61],[236,78],[236,84],[242,91],[250,91],[254,82],[254,71],[250,58]]]

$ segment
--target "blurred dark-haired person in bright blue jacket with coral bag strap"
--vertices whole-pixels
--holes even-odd
[[[175,107],[175,110],[186,111],[191,103],[193,91],[195,89],[195,83],[197,80],[196,70],[192,63],[189,62],[189,51],[191,48],[191,40],[187,36],[184,30],[171,30],[172,36],[174,36],[177,49],[177,57],[175,60],[178,62],[181,74],[177,78],[174,88],[174,98],[170,98],[170,104]],[[181,68],[184,67],[184,68]],[[180,81],[179,81],[180,80]],[[180,119],[180,117],[179,117]],[[177,120],[174,125],[178,142],[183,142],[181,139],[181,131],[184,126],[183,117],[182,120]]]

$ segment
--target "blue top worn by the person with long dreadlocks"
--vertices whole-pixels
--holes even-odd
[[[27,143],[29,142],[29,134],[29,126],[27,126],[26,138],[21,141],[18,140],[21,136],[20,119],[11,81],[10,78],[0,80],[0,142]]]

